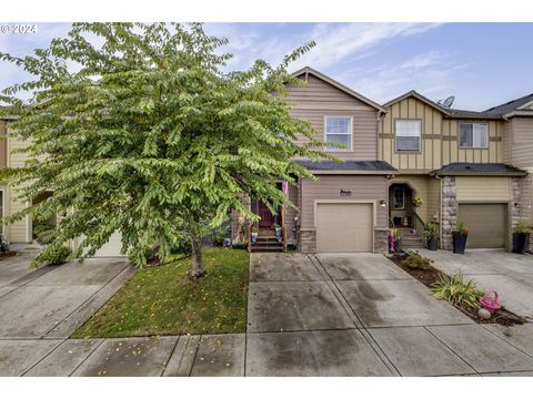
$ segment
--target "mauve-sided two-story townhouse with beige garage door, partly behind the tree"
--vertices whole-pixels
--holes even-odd
[[[324,147],[344,162],[295,160],[319,177],[302,178],[289,187],[280,182],[298,211],[286,207],[272,215],[252,198],[251,209],[261,216],[257,248],[275,248],[268,236],[276,223],[284,227],[286,243],[298,244],[304,253],[386,250],[388,190],[395,170],[378,160],[378,130],[385,110],[311,68],[294,75],[306,84],[288,86],[291,114],[311,121],[320,140],[344,144],[343,149]],[[233,223],[232,238],[242,233],[242,224]],[[261,243],[263,234],[266,238]]]

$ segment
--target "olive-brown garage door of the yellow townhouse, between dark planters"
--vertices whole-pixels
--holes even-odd
[[[469,226],[467,248],[503,248],[507,232],[506,204],[461,204],[459,218]]]

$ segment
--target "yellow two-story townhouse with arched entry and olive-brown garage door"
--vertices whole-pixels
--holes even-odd
[[[446,109],[415,91],[384,108],[379,158],[399,170],[389,188],[391,225],[421,243],[424,225],[439,223],[441,247],[451,249],[462,219],[470,248],[509,249],[512,228],[531,217],[531,195],[526,171],[505,156],[502,115]]]

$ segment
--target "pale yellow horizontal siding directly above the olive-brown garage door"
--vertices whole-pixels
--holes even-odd
[[[507,202],[512,198],[510,177],[455,177],[457,201]]]

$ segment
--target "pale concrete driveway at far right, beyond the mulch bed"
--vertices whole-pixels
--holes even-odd
[[[533,256],[497,249],[470,249],[464,255],[450,250],[419,252],[433,259],[438,269],[449,275],[462,272],[483,289],[496,290],[503,306],[533,321]]]

